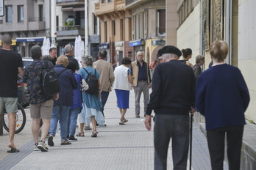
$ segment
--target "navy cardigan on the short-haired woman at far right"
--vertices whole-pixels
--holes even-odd
[[[249,100],[241,71],[229,64],[210,67],[196,82],[196,108],[205,116],[206,130],[245,125]]]

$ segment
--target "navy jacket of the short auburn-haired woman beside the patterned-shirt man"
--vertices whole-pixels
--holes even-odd
[[[63,64],[56,64],[54,66],[56,73],[60,73],[65,69]],[[73,89],[77,89],[77,80],[74,77],[74,73],[71,70],[65,70],[60,77],[59,100],[54,100],[54,106],[73,106]]]

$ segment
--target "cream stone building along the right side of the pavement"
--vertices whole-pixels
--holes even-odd
[[[254,0],[179,0],[177,13],[179,26],[177,27],[177,47],[191,48],[193,57],[190,62],[195,64],[198,54],[205,56],[205,67],[210,63],[210,44],[215,40],[224,40],[229,45],[227,64],[238,67],[249,89],[250,103],[246,110],[246,119],[256,123],[256,56],[254,45],[256,38],[255,20],[256,1]],[[252,124],[252,126],[255,126]],[[245,134],[255,133],[246,126]],[[249,130],[249,131],[247,131]],[[241,169],[255,169],[255,141],[254,135],[243,138],[241,152]]]

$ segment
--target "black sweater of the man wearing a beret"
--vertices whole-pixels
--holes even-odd
[[[195,84],[190,66],[178,60],[157,64],[146,114],[150,115],[154,110],[155,114],[188,117],[194,106]]]

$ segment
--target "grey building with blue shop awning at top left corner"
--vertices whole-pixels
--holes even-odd
[[[4,16],[0,17],[0,39],[4,34],[13,37],[12,50],[30,56],[34,45],[43,45],[50,36],[50,2],[46,0],[4,0]]]

